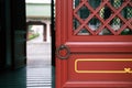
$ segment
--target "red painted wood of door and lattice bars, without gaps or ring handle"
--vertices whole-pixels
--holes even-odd
[[[119,13],[125,6],[131,6],[131,0],[125,0],[125,3],[118,10],[112,8],[108,2],[109,0],[102,0],[103,2],[96,11],[88,3],[85,3],[87,0],[81,1],[79,7],[73,10],[73,0],[56,0],[56,48],[61,45],[70,48],[69,58],[61,59],[56,56],[56,88],[132,88],[131,73],[77,73],[75,70],[75,61],[77,59],[132,59],[132,35],[119,35],[127,26],[132,28],[131,19],[127,21]],[[75,14],[84,4],[92,12],[85,21]],[[113,15],[106,21],[97,14],[105,4],[113,11]],[[73,16],[76,16],[82,24],[76,31],[73,30]],[[97,32],[90,31],[86,25],[92,16],[98,18],[103,23]],[[108,25],[114,16],[124,22],[118,32]],[[82,26],[92,35],[77,35]],[[108,28],[113,35],[97,35],[103,28]],[[117,70],[132,68],[132,63],[84,62],[78,66],[79,69],[85,70]]]

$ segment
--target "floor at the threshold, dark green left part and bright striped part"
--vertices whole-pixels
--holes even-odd
[[[0,74],[0,88],[51,88],[51,68],[20,68]]]

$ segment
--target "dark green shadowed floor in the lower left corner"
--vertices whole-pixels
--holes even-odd
[[[26,88],[26,68],[1,73],[0,88]]]

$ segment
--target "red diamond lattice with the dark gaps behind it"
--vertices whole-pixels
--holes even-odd
[[[74,35],[132,35],[132,0],[73,0]]]

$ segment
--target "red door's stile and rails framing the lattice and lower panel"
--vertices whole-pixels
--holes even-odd
[[[106,0],[107,1],[107,0]],[[79,54],[85,54],[82,58],[132,58],[132,36],[131,35],[114,35],[114,36],[76,36],[73,34],[73,0],[56,0],[56,47],[61,45],[66,45],[70,48],[70,55],[68,59],[59,59],[56,55],[56,88],[131,88],[131,81],[124,82],[95,82],[95,81],[70,81],[69,73],[75,73],[70,70],[68,65],[73,64],[73,58],[81,58]],[[75,55],[73,55],[75,54]],[[88,56],[86,55],[88,54]],[[131,65],[131,64],[129,64]],[[84,77],[76,74],[73,76]],[[89,76],[94,76],[92,74]],[[101,76],[101,75],[100,75]],[[105,75],[107,77],[107,75]],[[112,76],[111,76],[112,77]],[[113,76],[114,77],[114,76]],[[129,75],[128,77],[131,77]],[[73,77],[74,78],[74,77]],[[76,78],[76,77],[75,77]],[[80,78],[81,79],[81,78]]]

